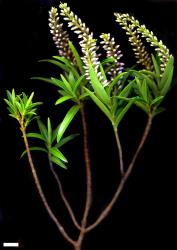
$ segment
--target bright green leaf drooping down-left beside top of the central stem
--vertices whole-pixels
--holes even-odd
[[[66,131],[67,127],[79,111],[78,106],[73,106],[70,108],[70,110],[67,112],[66,116],[64,117],[63,121],[60,124],[59,130],[58,130],[58,135],[57,135],[57,142],[59,142]]]

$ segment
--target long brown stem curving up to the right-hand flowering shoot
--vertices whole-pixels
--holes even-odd
[[[132,172],[134,163],[135,163],[135,161],[136,161],[136,159],[137,159],[137,157],[138,157],[138,155],[139,155],[139,153],[140,153],[140,151],[141,151],[141,149],[142,149],[142,147],[143,147],[143,145],[144,145],[144,143],[146,141],[146,138],[147,138],[148,133],[150,131],[151,125],[152,125],[152,115],[150,114],[149,117],[148,117],[148,121],[147,121],[145,130],[144,130],[143,136],[142,136],[141,141],[140,141],[140,143],[138,145],[138,148],[137,148],[137,150],[136,150],[136,152],[135,152],[135,154],[134,154],[134,156],[133,156],[133,158],[132,158],[132,160],[131,160],[131,162],[130,162],[130,164],[129,164],[126,172],[125,172],[125,174],[122,176],[121,181],[119,183],[119,186],[118,186],[112,200],[109,202],[107,207],[101,212],[101,214],[99,215],[97,220],[92,225],[90,225],[90,226],[88,226],[86,228],[86,232],[89,232],[92,229],[94,229],[96,226],[98,226],[102,222],[102,220],[104,220],[105,217],[110,213],[110,211],[113,208],[115,202],[117,201],[121,191],[123,190],[124,185],[125,185],[128,177],[130,176],[130,174]]]

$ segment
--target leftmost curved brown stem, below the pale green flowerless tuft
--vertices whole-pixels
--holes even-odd
[[[26,147],[26,152],[27,152],[27,155],[28,155],[28,161],[29,161],[29,164],[30,164],[30,167],[31,167],[31,172],[32,172],[32,175],[33,175],[33,178],[34,178],[34,182],[36,184],[36,187],[37,187],[37,190],[38,190],[38,193],[41,197],[41,200],[50,216],[50,218],[53,220],[53,222],[55,223],[55,225],[57,226],[58,230],[60,231],[60,233],[63,235],[63,237],[69,242],[71,243],[73,246],[75,246],[75,241],[71,239],[71,237],[66,233],[65,229],[63,228],[63,226],[61,225],[61,223],[59,222],[59,220],[56,218],[56,216],[54,215],[54,213],[52,212],[47,200],[46,200],[46,197],[43,193],[43,190],[42,190],[42,187],[41,187],[41,184],[40,184],[40,181],[39,181],[39,178],[37,176],[37,173],[36,173],[36,169],[35,169],[35,166],[34,166],[34,163],[33,163],[33,160],[32,160],[32,157],[31,157],[31,153],[30,153],[30,149],[29,149],[29,144],[28,144],[28,140],[27,140],[27,137],[26,137],[26,131],[25,131],[25,128],[24,127],[21,127],[21,131],[22,131],[22,134],[23,134],[23,139],[24,139],[24,143],[25,143],[25,147]]]

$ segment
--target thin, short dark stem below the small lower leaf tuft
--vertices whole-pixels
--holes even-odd
[[[49,155],[49,166],[50,166],[50,170],[51,170],[51,172],[52,172],[52,174],[53,174],[53,176],[54,176],[54,178],[55,178],[55,180],[57,182],[58,189],[59,189],[59,192],[60,192],[60,196],[61,196],[61,198],[62,198],[62,200],[64,202],[64,205],[65,205],[66,209],[68,210],[68,213],[69,213],[74,225],[76,226],[76,228],[81,230],[81,226],[78,224],[78,222],[76,220],[76,217],[74,215],[74,212],[73,212],[73,210],[72,210],[72,208],[71,208],[71,206],[70,206],[70,204],[69,204],[69,202],[68,202],[68,200],[67,200],[67,198],[65,196],[65,193],[63,191],[63,187],[62,187],[60,178],[56,174],[55,170],[53,169],[53,165],[52,165],[52,162],[50,160],[50,155]]]

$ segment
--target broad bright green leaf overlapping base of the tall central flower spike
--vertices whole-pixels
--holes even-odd
[[[97,74],[95,73],[93,67],[91,66],[89,69],[89,73],[90,73],[90,80],[93,86],[93,89],[95,91],[95,94],[97,95],[97,97],[105,104],[109,104],[110,103],[110,97],[108,96],[108,94],[106,93],[103,85],[101,84],[101,82],[99,81]]]

